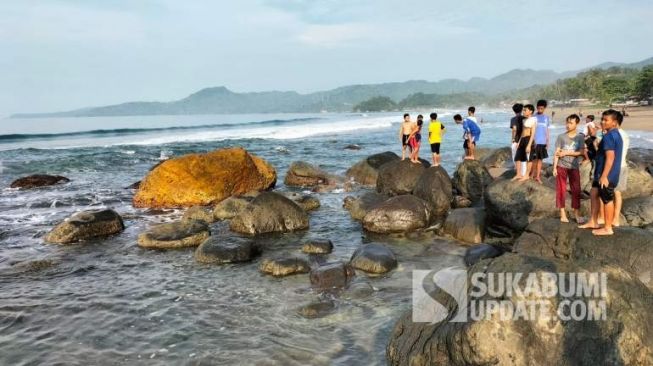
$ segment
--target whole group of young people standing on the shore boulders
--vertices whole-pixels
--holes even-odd
[[[551,118],[546,114],[547,102],[539,100],[532,104],[513,105],[515,116],[510,120],[511,145],[515,176],[513,181],[533,180],[542,183],[542,163],[547,159],[550,146]],[[463,127],[464,159],[475,159],[476,144],[481,137],[481,128],[475,117],[476,109],[469,107],[467,117],[456,114],[453,120]],[[569,222],[565,210],[567,184],[571,192],[571,207],[578,227],[592,229],[594,235],[612,235],[613,227],[619,226],[622,192],[627,188],[628,166],[626,154],[629,148],[628,134],[621,128],[624,115],[608,109],[601,115],[600,126],[593,115],[585,118],[585,126],[578,131],[580,119],[571,114],[565,119],[565,132],[555,140],[553,175],[556,177],[556,206],[560,210],[560,221]],[[446,128],[438,120],[437,113],[431,113],[428,127],[433,166],[441,163],[440,146]],[[422,139],[423,116],[412,122],[408,113],[399,131],[402,142],[402,160],[409,152],[410,160],[419,163],[419,149]],[[592,189],[590,191],[591,213],[585,220],[580,213],[582,164],[591,164]],[[602,226],[601,226],[602,225]]]

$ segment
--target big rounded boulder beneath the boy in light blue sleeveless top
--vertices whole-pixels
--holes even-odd
[[[499,179],[485,191],[488,228],[506,235],[519,234],[536,219],[556,217],[555,190],[535,183]]]

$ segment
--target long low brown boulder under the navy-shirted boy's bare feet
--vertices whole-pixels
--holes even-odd
[[[567,261],[591,259],[616,265],[644,279],[653,270],[651,234],[639,228],[615,228],[613,236],[595,236],[556,219],[534,221],[515,241],[513,251]],[[653,289],[653,281],[648,283]]]

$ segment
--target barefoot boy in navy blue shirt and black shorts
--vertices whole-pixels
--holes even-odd
[[[594,168],[594,180],[592,181],[591,212],[592,216],[581,229],[593,229],[594,235],[612,235],[612,222],[615,215],[614,189],[619,184],[621,173],[621,156],[623,154],[623,140],[619,134],[619,120],[623,115],[614,109],[603,112],[601,124],[605,134],[599,150],[596,153],[596,166]],[[601,202],[605,211],[605,226],[598,225]]]

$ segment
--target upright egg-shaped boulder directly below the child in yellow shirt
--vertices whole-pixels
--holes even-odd
[[[453,201],[451,178],[441,166],[430,167],[417,180],[413,194],[429,203],[433,215],[444,216]]]

